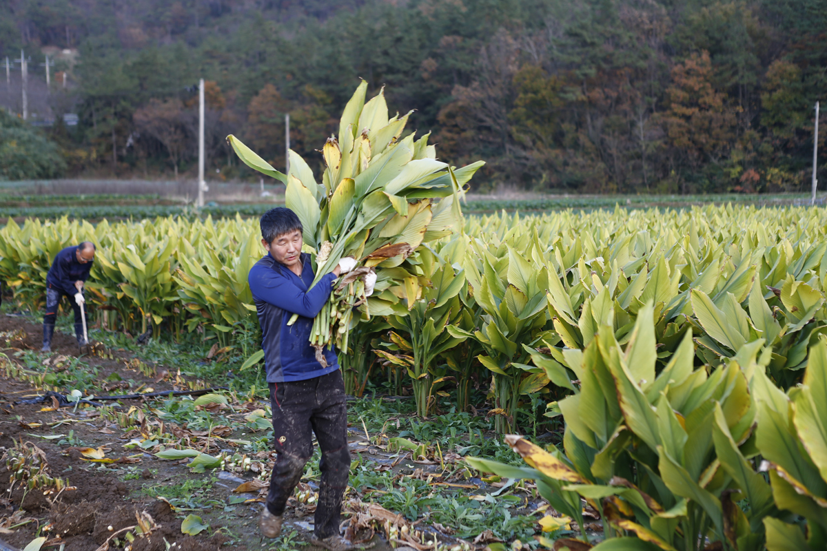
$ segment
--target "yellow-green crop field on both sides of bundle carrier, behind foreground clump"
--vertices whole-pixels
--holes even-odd
[[[400,279],[361,306],[345,354],[349,390],[371,369],[397,390],[410,378],[426,415],[440,387],[466,385],[482,368],[500,430],[513,430],[526,394],[572,392],[570,350],[593,340],[602,312],[614,311],[624,343],[649,300],[658,367],[688,330],[698,361],[712,367],[763,338],[770,376],[786,389],[825,332],[824,218],[820,209],[730,206],[468,218],[461,233],[404,259]],[[40,310],[51,259],[79,240],[98,245],[89,287],[109,328],[158,333],[165,324],[226,346],[255,323],[246,284],[263,254],[255,220],[10,222],[0,230],[0,278],[17,302]]]

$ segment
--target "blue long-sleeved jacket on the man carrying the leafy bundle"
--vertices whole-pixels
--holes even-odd
[[[336,276],[327,273],[308,291],[314,277],[310,256],[302,254],[301,261],[299,278],[267,254],[256,262],[247,277],[261,325],[267,382],[304,381],[339,368],[335,352],[325,350],[327,368],[323,368],[316,360],[316,349],[310,345],[313,318],[327,302]],[[287,325],[293,314],[299,314],[299,318]]]

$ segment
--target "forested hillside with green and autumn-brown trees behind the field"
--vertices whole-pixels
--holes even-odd
[[[216,177],[252,177],[227,149],[229,133],[283,168],[287,113],[290,145],[321,164],[314,150],[365,78],[372,93],[385,86],[392,110],[416,109],[409,126],[432,132],[445,160],[485,159],[480,191],[799,191],[810,185],[813,107],[827,83],[827,10],[817,0],[0,8],[10,15],[0,55],[79,50],[53,107],[76,111],[79,125],[49,131],[73,174],[193,170],[198,78],[208,81]]]

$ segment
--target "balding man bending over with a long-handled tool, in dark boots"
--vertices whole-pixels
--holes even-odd
[[[95,259],[95,245],[84,241],[74,247],[66,247],[55,256],[55,261],[46,274],[46,313],[43,316],[42,352],[51,351],[52,335],[55,335],[57,307],[63,297],[72,297],[74,310],[74,334],[78,344],[86,345],[84,339],[84,314],[80,307],[84,299],[84,282],[89,277]]]

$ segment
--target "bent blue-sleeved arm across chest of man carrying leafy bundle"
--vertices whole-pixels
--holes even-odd
[[[250,290],[255,297],[264,302],[269,302],[291,314],[313,318],[322,311],[322,306],[327,302],[334,279],[336,276],[328,273],[315,287],[304,292],[289,279],[272,273],[272,270],[254,269],[250,273]]]

